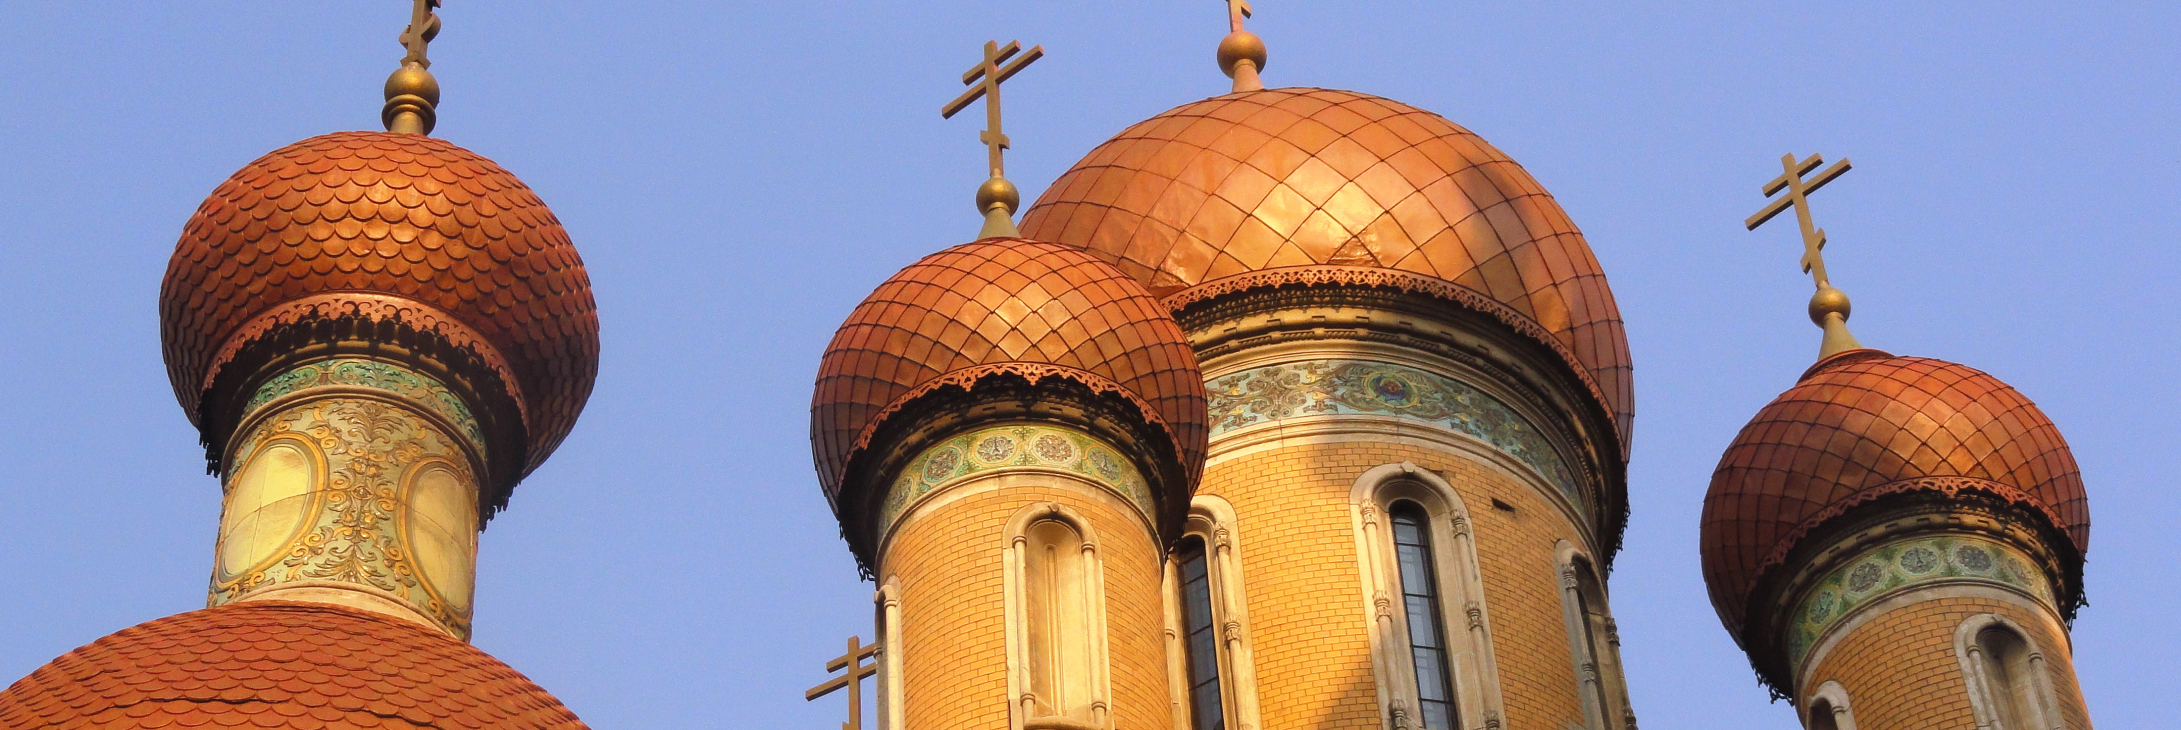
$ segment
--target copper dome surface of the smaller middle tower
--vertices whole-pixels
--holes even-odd
[[[1186,473],[1204,462],[1204,377],[1173,316],[1082,248],[988,238],[909,264],[833,333],[811,397],[827,497],[890,407],[986,373],[1119,388],[1167,429]]]

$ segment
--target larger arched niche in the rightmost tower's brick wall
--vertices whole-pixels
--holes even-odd
[[[2022,625],[2000,615],[1969,617],[1954,630],[1954,654],[1969,686],[1976,723],[1989,730],[2059,728],[2059,702],[2044,652]]]

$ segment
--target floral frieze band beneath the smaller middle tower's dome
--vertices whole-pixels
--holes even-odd
[[[1005,425],[949,438],[909,460],[909,466],[903,466],[901,475],[894,477],[894,486],[885,490],[885,503],[879,508],[879,532],[892,530],[909,506],[940,486],[1005,466],[1067,471],[1104,484],[1143,514],[1156,514],[1143,473],[1112,445],[1075,429]]]

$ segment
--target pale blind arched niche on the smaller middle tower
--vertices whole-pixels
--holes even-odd
[[[1008,530],[1008,665],[1016,728],[1106,728],[1106,586],[1097,543],[1058,503]]]

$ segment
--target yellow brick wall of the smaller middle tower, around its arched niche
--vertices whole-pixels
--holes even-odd
[[[1008,728],[1003,551],[1027,506],[1075,510],[1106,564],[1106,643],[1117,730],[1171,730],[1162,553],[1143,521],[1069,486],[1010,486],[912,519],[885,553],[901,586],[903,723],[907,730]]]

